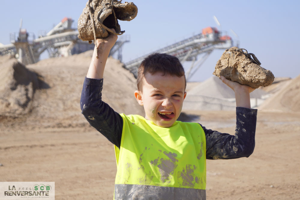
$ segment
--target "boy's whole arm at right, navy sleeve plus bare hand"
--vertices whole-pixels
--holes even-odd
[[[256,109],[251,109],[250,92],[254,90],[247,85],[220,79],[235,92],[236,100],[236,130],[235,135],[207,130],[203,127],[206,136],[207,159],[233,159],[248,157],[255,146]]]

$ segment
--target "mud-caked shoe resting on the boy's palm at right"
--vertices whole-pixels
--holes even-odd
[[[236,46],[226,49],[217,61],[213,74],[224,76],[242,85],[249,85],[251,88],[271,85],[274,81],[273,73],[259,66],[260,62],[255,55],[244,50]]]

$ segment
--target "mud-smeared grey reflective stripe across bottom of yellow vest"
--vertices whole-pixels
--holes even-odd
[[[206,199],[206,191],[193,188],[152,185],[116,184],[115,200],[119,199]]]

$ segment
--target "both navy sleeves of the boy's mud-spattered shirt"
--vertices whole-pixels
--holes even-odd
[[[85,78],[80,106],[82,114],[110,142],[120,148],[123,119],[102,101],[103,79]],[[256,109],[236,108],[235,135],[203,128],[206,137],[206,159],[249,157],[255,146]]]

